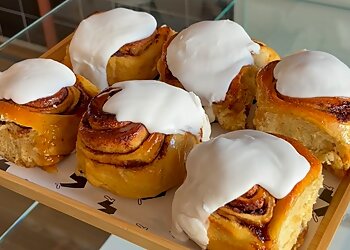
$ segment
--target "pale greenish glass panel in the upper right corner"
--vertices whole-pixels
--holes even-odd
[[[282,55],[303,49],[329,52],[350,66],[348,0],[245,0],[234,19]]]

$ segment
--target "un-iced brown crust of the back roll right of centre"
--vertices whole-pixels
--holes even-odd
[[[166,61],[167,48],[176,35],[177,34],[174,34],[164,43],[162,55],[157,63],[157,68],[160,81],[184,89],[181,82],[171,73]],[[261,46],[261,53],[254,56],[255,61],[258,62],[259,66],[270,62],[270,60],[279,59],[278,54],[273,49],[260,42],[259,45]],[[242,67],[239,74],[232,79],[225,99],[213,103],[212,108],[214,115],[224,129],[238,130],[248,127],[249,121],[247,118],[255,99],[255,76],[257,72],[258,67],[255,65]]]

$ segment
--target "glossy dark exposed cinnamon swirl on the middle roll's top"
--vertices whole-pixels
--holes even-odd
[[[106,90],[90,103],[79,130],[85,155],[122,168],[142,167],[164,157],[172,147],[172,135],[149,133],[140,123],[120,122],[115,115],[103,112],[108,98],[120,90]]]

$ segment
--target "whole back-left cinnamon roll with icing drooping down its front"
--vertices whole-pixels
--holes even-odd
[[[163,43],[173,34],[153,16],[116,8],[83,20],[64,62],[100,90],[116,82],[154,79]]]

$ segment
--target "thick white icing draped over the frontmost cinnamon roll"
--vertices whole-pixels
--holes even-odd
[[[306,176],[310,164],[283,139],[239,130],[196,145],[186,169],[186,180],[173,200],[172,233],[206,248],[211,213],[256,184],[281,199]]]

